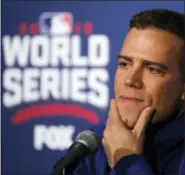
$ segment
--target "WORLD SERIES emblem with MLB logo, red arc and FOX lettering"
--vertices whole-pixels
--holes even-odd
[[[43,12],[38,22],[21,23],[19,34],[2,37],[2,101],[15,126],[64,115],[100,121],[84,106],[108,107],[110,41],[93,34],[93,27],[90,21],[75,23],[70,12]],[[33,147],[65,150],[75,127],[35,124]]]

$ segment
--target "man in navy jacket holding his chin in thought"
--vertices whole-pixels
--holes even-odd
[[[185,174],[184,15],[165,9],[136,14],[119,54],[115,99],[98,151],[74,174]]]

